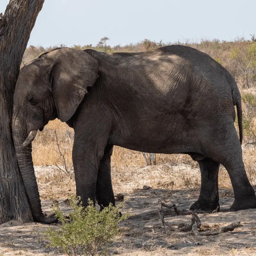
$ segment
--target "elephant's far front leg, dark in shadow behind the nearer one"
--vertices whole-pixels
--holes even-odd
[[[104,150],[104,156],[100,161],[96,182],[96,200],[100,205],[100,209],[107,207],[109,203],[115,206],[115,197],[111,182],[110,158],[112,155],[113,146],[107,145]]]

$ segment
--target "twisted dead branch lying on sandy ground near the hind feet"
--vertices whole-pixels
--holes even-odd
[[[161,202],[161,200],[158,199],[159,206],[157,207],[159,216],[162,220],[163,226],[164,226],[164,232],[165,232],[165,226],[169,227],[172,231],[177,231],[177,232],[186,232],[186,231],[192,231],[196,236],[215,236],[219,235],[221,233],[225,233],[228,231],[233,231],[235,228],[242,227],[243,225],[240,224],[240,222],[233,222],[232,224],[221,228],[219,231],[216,230],[209,230],[205,232],[199,232],[197,228],[201,227],[201,220],[199,219],[198,215],[196,212],[193,211],[182,211],[180,212],[176,205],[171,203],[171,204],[164,204]],[[179,215],[192,215],[192,220],[190,224],[187,223],[180,223],[178,225],[178,228],[174,228],[172,225],[164,221],[164,212],[163,212],[163,206],[169,209],[174,209],[176,212],[177,216]],[[165,232],[166,233],[166,232]]]

